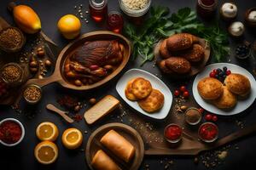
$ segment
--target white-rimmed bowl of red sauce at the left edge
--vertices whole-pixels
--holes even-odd
[[[20,144],[25,135],[22,123],[14,118],[6,118],[0,122],[0,143],[5,146]]]

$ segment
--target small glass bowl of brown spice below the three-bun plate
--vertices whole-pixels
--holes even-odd
[[[201,122],[201,111],[195,107],[190,107],[185,112],[185,121],[189,123],[189,125],[197,125]]]

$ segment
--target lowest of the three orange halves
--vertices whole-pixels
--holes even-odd
[[[58,148],[56,144],[50,141],[43,141],[36,146],[34,155],[40,163],[50,164],[56,161]]]

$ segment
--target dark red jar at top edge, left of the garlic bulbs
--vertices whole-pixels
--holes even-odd
[[[217,5],[217,0],[197,0],[197,14],[203,18],[211,18],[216,12]]]

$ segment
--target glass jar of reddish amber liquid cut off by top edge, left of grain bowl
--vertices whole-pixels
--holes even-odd
[[[108,14],[108,0],[89,0],[90,16],[96,22],[101,22]]]

